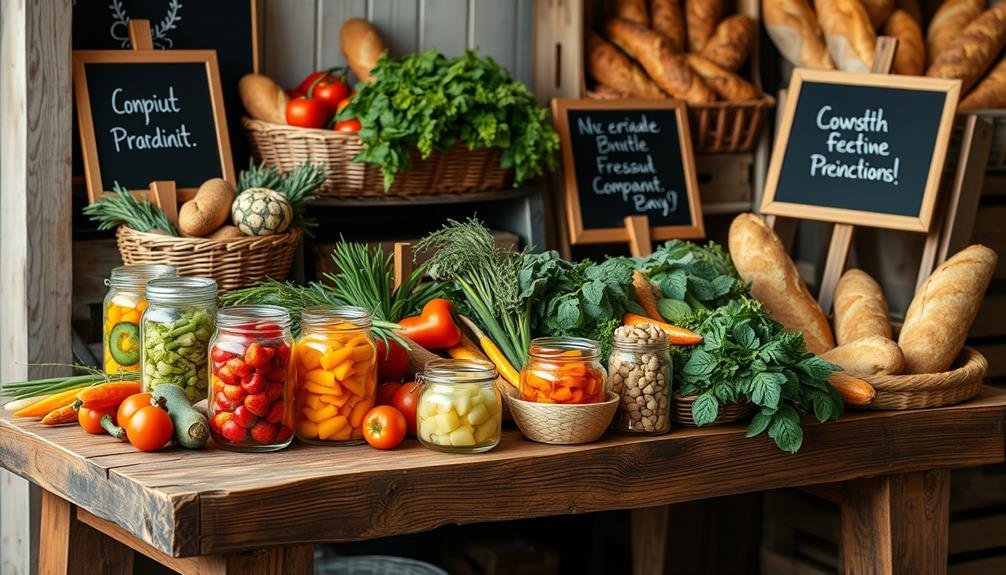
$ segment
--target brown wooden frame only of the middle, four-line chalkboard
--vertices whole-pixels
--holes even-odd
[[[572,142],[569,135],[570,110],[672,110],[678,129],[678,143],[681,146],[681,165],[684,167],[685,192],[691,210],[691,225],[661,225],[650,229],[653,239],[700,239],[705,237],[702,221],[702,203],[699,201],[698,180],[695,177],[695,159],[692,155],[691,133],[688,127],[688,111],[683,102],[675,100],[571,100],[553,99],[552,117],[555,130],[559,134],[562,149],[563,194],[565,196],[566,219],[569,223],[569,243],[618,243],[629,241],[630,231],[626,227],[584,229],[580,212],[579,194],[576,189],[576,171],[572,159]]]

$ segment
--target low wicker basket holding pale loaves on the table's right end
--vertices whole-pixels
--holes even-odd
[[[945,373],[919,375],[875,375],[863,379],[877,393],[866,409],[925,409],[967,401],[982,390],[982,380],[989,371],[985,356],[964,348]]]

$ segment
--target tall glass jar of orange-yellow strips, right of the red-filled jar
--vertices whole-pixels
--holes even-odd
[[[350,306],[308,308],[294,346],[291,422],[309,443],[363,441],[363,416],[377,393],[377,353],[370,312]]]

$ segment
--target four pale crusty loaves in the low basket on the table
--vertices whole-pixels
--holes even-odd
[[[787,330],[804,335],[807,350],[855,377],[946,372],[964,347],[996,267],[995,251],[971,245],[930,275],[908,307],[895,342],[880,285],[859,269],[835,288],[834,331],[797,272],[779,236],[754,214],[730,225],[730,257]]]

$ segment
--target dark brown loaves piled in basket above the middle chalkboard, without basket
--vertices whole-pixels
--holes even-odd
[[[674,98],[689,104],[756,101],[762,94],[736,71],[757,32],[725,0],[615,0],[597,34],[586,32],[596,92]]]

